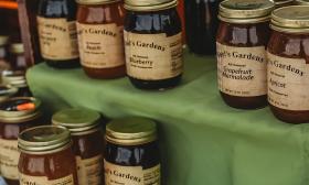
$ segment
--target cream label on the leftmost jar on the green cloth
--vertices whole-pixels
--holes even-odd
[[[44,58],[64,61],[79,57],[75,21],[38,17],[38,28]]]

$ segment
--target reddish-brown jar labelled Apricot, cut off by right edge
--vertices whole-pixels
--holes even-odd
[[[273,12],[268,44],[268,102],[286,122],[309,121],[309,6]]]

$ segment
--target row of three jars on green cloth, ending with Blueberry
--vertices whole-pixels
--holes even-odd
[[[92,78],[128,76],[137,88],[177,86],[183,72],[177,0],[42,0],[38,26],[50,66],[81,64]]]

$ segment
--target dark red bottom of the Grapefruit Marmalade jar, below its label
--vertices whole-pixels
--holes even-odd
[[[224,94],[222,91],[220,91],[220,94],[227,106],[236,109],[262,109],[267,106],[266,95],[256,97],[237,97]]]

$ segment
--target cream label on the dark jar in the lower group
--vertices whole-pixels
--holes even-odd
[[[146,185],[161,184],[160,164],[143,170],[141,166],[120,166],[104,161],[106,185]]]

